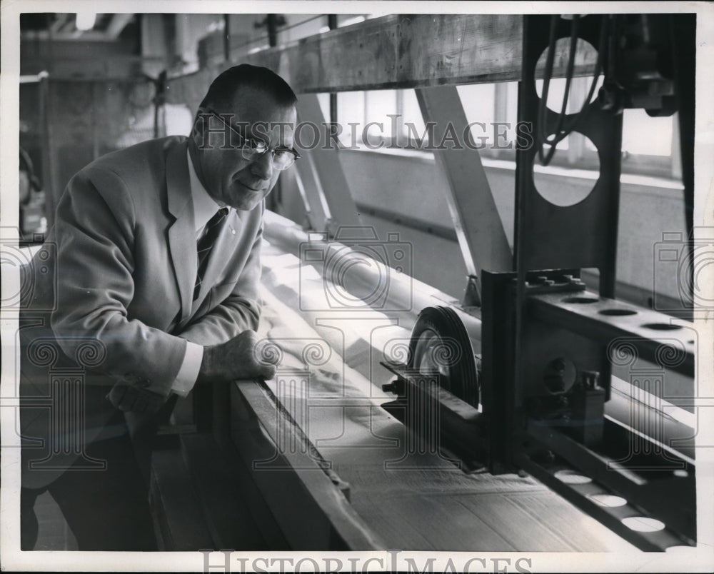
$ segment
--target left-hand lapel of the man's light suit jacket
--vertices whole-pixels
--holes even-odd
[[[186,142],[174,146],[166,159],[166,193],[169,212],[176,221],[169,228],[169,251],[181,294],[181,322],[191,313],[196,281],[196,229],[193,223],[191,183],[188,178]]]

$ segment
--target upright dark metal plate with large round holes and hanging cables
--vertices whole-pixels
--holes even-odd
[[[598,46],[600,26],[607,15],[585,16],[578,28],[579,37]],[[548,49],[551,16],[525,16],[523,29],[523,80],[519,85],[518,121],[541,129],[535,91],[535,64]],[[570,24],[559,19],[555,39],[570,35]],[[607,57],[606,54],[602,56]],[[573,121],[569,114],[565,121]],[[558,114],[546,108],[545,129],[555,129]],[[620,196],[620,148],[622,115],[600,109],[597,101],[576,126],[598,148],[600,177],[590,194],[571,206],[556,206],[535,188],[533,162],[536,145],[516,151],[516,233],[515,256],[518,270],[552,268],[598,268],[600,293],[615,295],[615,254]],[[498,271],[493,269],[491,271]]]

